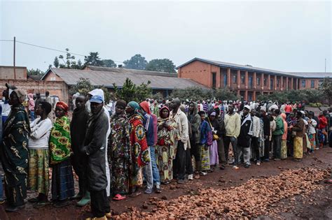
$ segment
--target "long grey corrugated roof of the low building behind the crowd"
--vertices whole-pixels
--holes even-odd
[[[48,73],[50,71],[62,78],[67,85],[76,85],[80,78],[88,78],[92,85],[95,86],[104,85],[104,87],[113,87],[113,83],[115,83],[117,87],[122,87],[126,78],[129,78],[136,85],[150,81],[152,89],[185,89],[186,87],[193,86],[208,89],[198,82],[185,78],[138,75],[137,73],[114,73],[109,71],[85,71],[67,68],[50,68]],[[45,77],[46,75],[43,78]]]

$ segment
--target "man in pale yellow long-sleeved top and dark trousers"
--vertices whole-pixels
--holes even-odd
[[[240,135],[241,128],[241,119],[240,115],[234,111],[234,105],[228,105],[228,113],[225,115],[225,128],[226,128],[226,136],[224,139],[224,147],[225,147],[225,159],[226,163],[228,163],[228,149],[230,147],[230,143],[232,143],[233,154],[234,154],[234,163],[233,169],[237,170],[237,164],[239,163],[239,154],[237,150],[237,137]]]

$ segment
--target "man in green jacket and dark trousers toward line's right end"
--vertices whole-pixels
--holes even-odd
[[[275,116],[275,131],[272,132],[273,157],[275,161],[280,161],[282,156],[282,135],[284,134],[284,121],[280,115],[280,110],[276,109],[272,114]]]

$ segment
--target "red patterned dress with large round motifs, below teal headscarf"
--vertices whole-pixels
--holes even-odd
[[[129,117],[130,133],[130,168],[129,178],[130,187],[141,186],[143,183],[141,167],[150,162],[148,152],[148,143],[146,142],[145,129],[143,126],[143,117],[138,114]]]

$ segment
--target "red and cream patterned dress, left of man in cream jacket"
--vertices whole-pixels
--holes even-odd
[[[164,123],[170,129],[159,129]],[[158,118],[158,142],[155,146],[156,163],[160,174],[160,182],[169,182],[173,179],[173,160],[175,159],[177,146],[175,140],[179,137],[177,122],[174,119]]]

